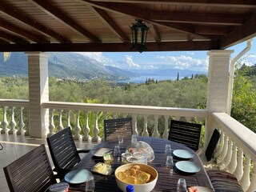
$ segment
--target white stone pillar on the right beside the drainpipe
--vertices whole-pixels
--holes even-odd
[[[229,109],[230,86],[230,54],[234,50],[210,50],[208,68],[208,87],[206,109],[212,112],[227,113]],[[232,90],[231,90],[232,91]],[[214,131],[213,119],[209,116],[206,121],[205,146],[208,145]]]

